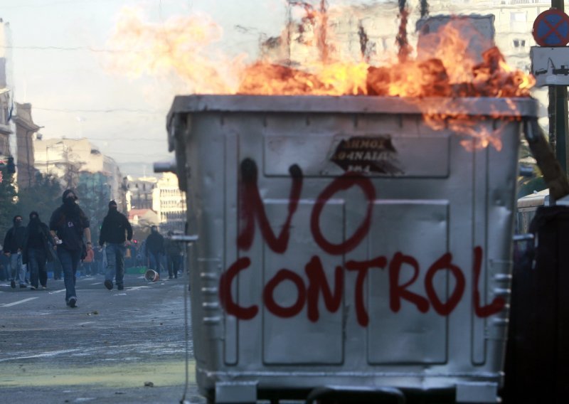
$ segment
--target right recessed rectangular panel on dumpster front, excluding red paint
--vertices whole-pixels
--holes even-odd
[[[376,222],[369,238],[372,254],[381,251],[392,257],[405,245],[405,250],[418,252],[414,258],[424,269],[432,261],[431,252],[448,250],[448,201],[378,201],[374,213]],[[425,294],[425,272],[408,290]],[[399,276],[410,279],[412,267],[405,267]],[[393,312],[389,282],[389,271],[374,270],[369,274],[369,363],[447,363],[447,319],[434,311],[421,313],[408,301]],[[437,295],[446,301],[447,275],[439,275],[435,282]],[[402,317],[405,321],[401,321]],[[390,348],[385,349],[387,346]]]

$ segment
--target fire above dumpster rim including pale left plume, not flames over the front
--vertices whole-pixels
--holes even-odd
[[[245,55],[206,55],[221,36],[220,26],[207,16],[172,18],[163,26],[125,9],[110,42],[135,50],[116,59],[115,68],[132,75],[174,71],[188,92],[199,94],[528,97],[535,83],[531,75],[510,68],[467,18],[423,35],[415,58],[394,57],[378,67],[366,60],[346,62],[322,49],[318,60],[299,68],[266,60],[247,65]],[[326,31],[321,36],[314,46],[334,48],[334,38]],[[482,52],[470,49],[472,36],[480,37]]]

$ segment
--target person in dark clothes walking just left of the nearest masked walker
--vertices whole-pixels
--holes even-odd
[[[22,262],[28,264],[30,289],[32,290],[38,289],[39,285],[42,289],[48,287],[46,262],[53,260],[50,251],[53,250],[53,245],[55,245],[55,241],[49,233],[48,225],[40,220],[38,212],[31,212],[30,223],[28,223],[23,237]]]

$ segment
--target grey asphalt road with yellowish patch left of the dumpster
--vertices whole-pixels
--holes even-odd
[[[185,339],[185,278],[126,275],[121,291],[102,282],[78,278],[75,309],[63,280],[47,290],[0,284],[0,401],[205,403]]]

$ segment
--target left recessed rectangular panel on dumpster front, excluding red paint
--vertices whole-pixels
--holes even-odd
[[[278,229],[279,225],[285,221],[287,217],[288,201],[265,200],[267,215],[271,218],[272,228]],[[272,301],[271,304],[277,304],[278,307],[288,310],[289,314],[297,312],[294,309],[295,304],[307,302],[310,297],[307,295],[310,291],[305,292],[305,287],[297,287],[294,282],[302,282],[307,285],[306,266],[317,265],[324,270],[326,282],[330,282],[335,286],[334,270],[338,265],[336,257],[330,255],[316,256],[312,249],[307,245],[312,245],[312,235],[307,226],[302,223],[309,223],[310,213],[314,209],[314,202],[301,201],[298,211],[295,215],[295,222],[298,223],[294,227],[294,238],[290,240],[288,248],[294,251],[294,255],[282,255],[273,252],[266,245],[263,248],[262,255],[262,275],[264,284],[267,285],[278,274],[288,274],[286,281],[278,284],[272,292],[267,294]],[[344,240],[345,223],[345,204],[343,201],[334,201],[329,206],[328,211],[329,222],[324,231],[330,230],[328,234],[337,233],[336,239]],[[335,225],[340,223],[340,225]],[[314,261],[312,261],[314,259]],[[312,269],[311,267],[311,269]],[[296,274],[289,275],[290,271]],[[275,281],[273,281],[274,283]],[[272,285],[272,284],[271,284]],[[341,299],[341,305],[344,299]],[[329,313],[323,304],[322,299],[318,302],[318,312],[325,321],[311,321],[308,316],[307,304],[298,310],[294,317],[282,318],[272,314],[265,305],[263,309],[262,319],[262,361],[269,364],[335,364],[341,365],[344,361],[344,318],[343,311],[336,310]],[[292,309],[291,309],[292,308]]]

